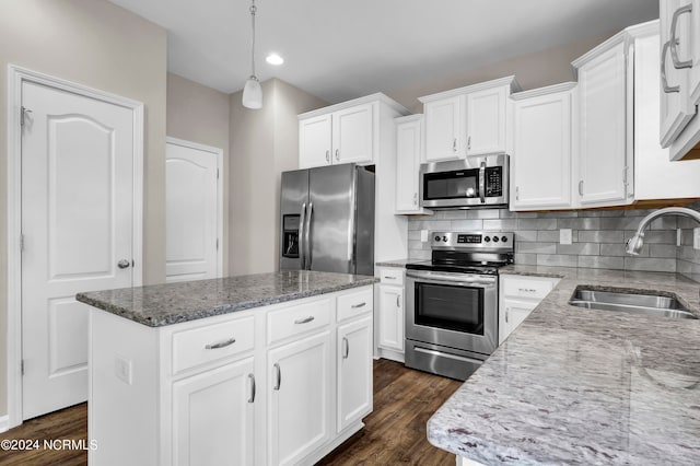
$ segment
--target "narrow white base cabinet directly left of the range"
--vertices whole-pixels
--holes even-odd
[[[377,356],[404,362],[405,338],[405,270],[394,267],[378,269],[378,307],[376,313]]]

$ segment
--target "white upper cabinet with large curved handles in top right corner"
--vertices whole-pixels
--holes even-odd
[[[661,142],[672,160],[700,149],[700,0],[660,0]]]

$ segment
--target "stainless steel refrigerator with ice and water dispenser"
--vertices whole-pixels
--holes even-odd
[[[280,269],[374,275],[374,173],[354,164],[282,173]]]

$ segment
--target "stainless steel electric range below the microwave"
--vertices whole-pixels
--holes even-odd
[[[406,365],[464,381],[498,347],[513,233],[432,232],[431,248],[432,260],[406,265]]]

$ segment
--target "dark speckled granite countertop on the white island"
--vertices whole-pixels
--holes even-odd
[[[149,327],[161,327],[363,287],[376,281],[374,277],[360,275],[284,270],[94,291],[78,293],[75,298],[82,303]]]

